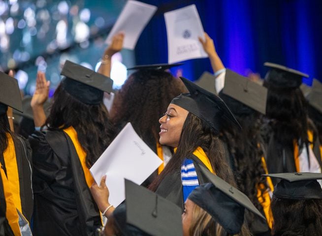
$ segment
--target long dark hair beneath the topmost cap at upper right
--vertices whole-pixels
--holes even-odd
[[[283,146],[299,148],[308,142],[307,102],[299,88],[278,88],[266,85],[266,116],[271,119],[274,138]]]

